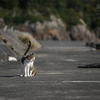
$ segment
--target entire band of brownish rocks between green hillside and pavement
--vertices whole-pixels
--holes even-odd
[[[31,33],[37,40],[75,40],[75,41],[100,41],[100,28],[90,32],[86,23],[80,19],[82,24],[72,25],[69,32],[65,29],[65,24],[60,18],[50,16],[51,21],[36,22],[35,24],[25,23],[25,25],[15,28]]]

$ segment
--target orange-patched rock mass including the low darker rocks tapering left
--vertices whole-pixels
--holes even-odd
[[[15,29],[29,32],[37,40],[70,40],[62,20],[54,15],[51,15],[50,18],[51,21],[44,21],[43,23],[37,21],[30,25],[26,23],[26,26],[16,26]]]

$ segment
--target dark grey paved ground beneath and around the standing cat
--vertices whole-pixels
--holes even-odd
[[[41,43],[44,48],[35,51],[35,77],[19,77],[20,62],[0,66],[0,100],[100,100],[100,69],[77,68],[99,63],[100,51],[64,50],[57,42],[51,42],[54,49],[48,49],[50,42]],[[85,47],[83,44],[77,47]]]

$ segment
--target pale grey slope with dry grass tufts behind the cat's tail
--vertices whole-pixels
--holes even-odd
[[[4,31],[3,29],[0,29],[0,38],[19,56],[24,54],[29,40],[32,42],[32,51],[41,48],[41,45],[36,41],[36,39],[27,32],[11,29]]]

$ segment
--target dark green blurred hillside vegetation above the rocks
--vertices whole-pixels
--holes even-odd
[[[54,14],[65,22],[66,29],[80,23],[80,18],[92,29],[100,26],[97,4],[100,0],[0,0],[0,17],[8,25],[19,25],[27,20],[50,20]]]

